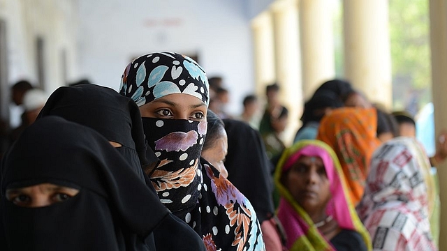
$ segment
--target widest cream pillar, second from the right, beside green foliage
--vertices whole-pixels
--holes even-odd
[[[345,77],[373,102],[392,105],[388,0],[344,0]]]

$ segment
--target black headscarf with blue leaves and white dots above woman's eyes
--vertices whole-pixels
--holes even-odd
[[[156,52],[129,63],[119,93],[132,98],[138,106],[174,93],[189,94],[208,105],[209,89],[205,70],[196,61],[174,52]]]

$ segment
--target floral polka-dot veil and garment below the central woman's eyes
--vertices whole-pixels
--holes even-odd
[[[207,123],[142,121],[149,146],[161,160],[150,177],[161,202],[203,238],[207,250],[264,250],[248,199],[200,159]]]

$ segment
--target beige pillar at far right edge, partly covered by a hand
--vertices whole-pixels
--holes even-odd
[[[434,105],[435,132],[447,128],[447,1],[430,0],[430,47],[432,50],[432,96]],[[441,220],[439,223],[439,250],[447,250],[447,162],[437,168],[439,176],[439,199]]]

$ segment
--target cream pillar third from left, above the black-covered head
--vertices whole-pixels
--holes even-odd
[[[302,89],[305,99],[335,76],[332,12],[328,0],[300,0]]]

